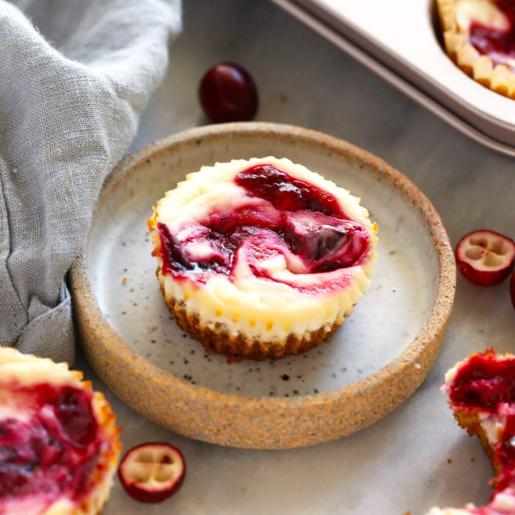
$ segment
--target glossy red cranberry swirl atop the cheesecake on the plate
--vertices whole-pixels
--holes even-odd
[[[345,288],[348,269],[369,255],[367,229],[331,193],[266,164],[239,172],[234,183],[241,188],[234,205],[175,233],[158,223],[164,274],[197,285],[213,274],[233,282],[252,275],[321,295]],[[275,274],[270,263],[277,261],[297,276]]]

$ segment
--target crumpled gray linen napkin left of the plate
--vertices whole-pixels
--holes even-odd
[[[0,344],[71,363],[64,276],[165,71],[180,0],[15,4],[0,0]]]

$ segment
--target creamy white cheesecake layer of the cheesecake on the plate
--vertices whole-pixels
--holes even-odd
[[[296,268],[295,258],[286,263],[283,256],[276,256],[264,262],[263,267],[274,278],[284,282],[255,277],[248,272],[244,262],[238,262],[232,271],[231,280],[227,276],[213,274],[201,286],[194,281],[176,280],[171,274],[160,272],[159,280],[165,297],[182,303],[188,313],[196,314],[202,323],[212,329],[217,323],[224,324],[232,336],[242,333],[261,341],[280,342],[289,334],[304,335],[306,331],[317,331],[322,327],[329,330],[334,323],[343,322],[344,316],[351,313],[354,304],[368,289],[376,259],[373,249],[377,242],[376,225],[370,222],[368,211],[359,205],[359,199],[350,195],[347,190],[288,159],[267,157],[217,163],[189,174],[186,181],[166,193],[157,204],[153,228],[156,229],[157,223],[161,222],[170,231],[177,232],[214,211],[223,212],[228,207],[233,210],[239,204],[251,204],[252,199],[245,195],[243,188],[236,185],[233,179],[239,172],[260,164],[275,166],[291,177],[332,194],[341,210],[367,229],[370,251],[363,264],[346,268],[345,271],[339,269],[303,274],[292,272]],[[157,231],[153,239],[158,245]],[[202,243],[193,242],[190,245],[188,253],[196,256],[209,256],[212,252]],[[158,263],[162,268],[160,256]],[[328,281],[331,277],[341,277],[342,274],[348,277],[348,285],[336,292],[307,295],[285,284],[289,281],[301,285],[312,284],[322,277],[324,281]]]

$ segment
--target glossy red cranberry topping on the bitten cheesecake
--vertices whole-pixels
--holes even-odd
[[[496,491],[488,506],[468,511],[477,515],[515,513],[515,357],[500,359],[491,349],[474,354],[458,368],[445,390],[455,412],[466,417],[482,414],[504,427],[499,441],[492,445]],[[513,508],[500,509],[498,495],[508,497]]]

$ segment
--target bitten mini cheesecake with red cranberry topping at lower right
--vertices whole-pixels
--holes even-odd
[[[492,462],[494,493],[487,506],[433,508],[428,515],[515,513],[515,356],[489,349],[472,354],[445,375],[442,391],[458,424],[477,435]]]

